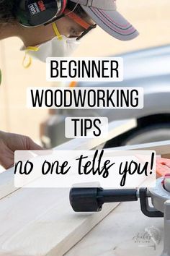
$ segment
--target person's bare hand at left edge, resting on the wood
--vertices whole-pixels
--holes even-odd
[[[15,150],[43,150],[30,137],[0,131],[0,165],[8,169],[14,166]]]

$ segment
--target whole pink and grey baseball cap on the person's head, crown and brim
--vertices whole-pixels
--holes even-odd
[[[131,40],[138,31],[117,12],[116,0],[71,0],[80,4],[92,20],[119,40]]]

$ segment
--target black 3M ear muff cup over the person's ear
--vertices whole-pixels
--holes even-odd
[[[14,15],[24,27],[37,27],[61,16],[68,0],[17,0]]]

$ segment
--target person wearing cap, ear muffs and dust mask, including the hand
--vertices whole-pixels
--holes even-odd
[[[113,0],[0,0],[0,40],[17,36],[31,59],[71,56],[81,38],[99,25],[119,40],[138,36],[135,27],[117,12]],[[58,4],[59,3],[59,4]],[[56,6],[54,17],[48,17]],[[52,8],[53,7],[53,8]],[[58,7],[58,8],[57,8]],[[39,15],[39,16],[38,16]],[[14,164],[15,150],[40,150],[30,137],[0,132],[0,164]]]

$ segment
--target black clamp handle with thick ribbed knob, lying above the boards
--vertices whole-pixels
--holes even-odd
[[[70,191],[70,203],[75,212],[98,212],[102,210],[104,202],[131,202],[138,201],[140,197],[140,208],[147,217],[164,217],[149,206],[148,189],[102,189],[101,187],[73,187]]]

